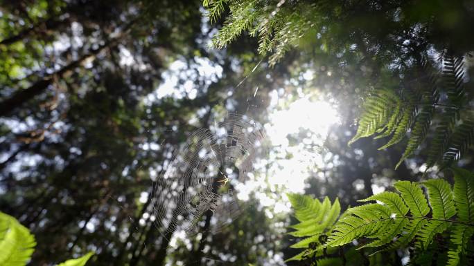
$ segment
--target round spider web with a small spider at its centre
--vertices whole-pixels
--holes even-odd
[[[160,233],[166,236],[177,227],[198,233],[196,225],[209,211],[213,230],[235,220],[243,207],[234,185],[248,180],[264,139],[261,124],[237,113],[215,122],[213,130],[191,134],[154,185],[152,206]]]

